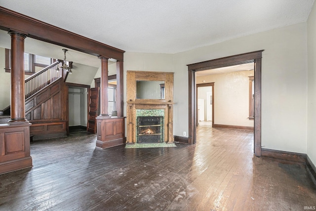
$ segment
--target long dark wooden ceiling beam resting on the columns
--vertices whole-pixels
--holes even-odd
[[[105,56],[123,61],[125,51],[91,40],[40,20],[0,7],[0,29],[23,32],[30,38],[64,46],[94,56]]]

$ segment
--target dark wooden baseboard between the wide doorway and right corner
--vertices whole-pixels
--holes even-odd
[[[285,160],[285,161],[294,161],[294,162],[300,162],[300,163],[306,162],[306,154],[279,151],[279,150],[273,150],[273,149],[262,148],[261,156],[276,158],[276,159]]]

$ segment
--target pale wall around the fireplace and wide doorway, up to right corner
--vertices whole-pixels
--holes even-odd
[[[307,24],[300,23],[174,55],[126,52],[124,76],[126,70],[175,72],[174,135],[182,136],[188,131],[187,64],[264,49],[262,147],[306,153],[306,43]]]

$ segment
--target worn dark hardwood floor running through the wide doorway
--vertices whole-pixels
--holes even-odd
[[[96,149],[96,135],[31,143],[32,169],[0,175],[2,211],[300,211],[305,166],[253,155],[253,132],[199,127],[197,145]]]

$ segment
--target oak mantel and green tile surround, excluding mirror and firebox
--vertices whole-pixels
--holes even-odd
[[[137,142],[137,117],[162,116],[163,141],[173,142],[173,73],[127,71],[126,143]],[[164,99],[137,99],[137,81],[164,81]]]

